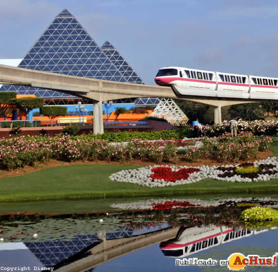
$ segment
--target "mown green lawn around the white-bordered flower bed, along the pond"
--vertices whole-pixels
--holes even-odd
[[[271,150],[278,154],[278,137],[273,137]],[[278,178],[268,182],[225,183],[213,179],[166,188],[147,188],[112,182],[108,176],[136,165],[79,164],[58,166],[16,177],[0,179],[0,202],[54,199],[98,199],[128,197],[177,197],[181,195],[278,193]]]

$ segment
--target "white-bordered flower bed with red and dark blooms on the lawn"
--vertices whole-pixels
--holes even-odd
[[[133,183],[147,187],[186,185],[213,178],[223,182],[258,182],[278,177],[278,157],[248,163],[259,168],[257,173],[238,173],[237,168],[244,164],[228,166],[147,166],[133,170],[122,170],[109,176],[116,182]]]

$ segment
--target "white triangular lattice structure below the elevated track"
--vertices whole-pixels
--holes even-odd
[[[162,98],[153,113],[153,117],[163,118],[171,125],[185,125],[189,118],[172,99]]]

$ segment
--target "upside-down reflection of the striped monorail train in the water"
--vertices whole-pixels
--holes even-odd
[[[181,228],[174,239],[160,243],[160,249],[167,257],[186,257],[202,250],[228,243],[252,234],[258,234],[268,230],[251,231],[240,228],[228,229],[225,226],[205,226],[198,228]]]

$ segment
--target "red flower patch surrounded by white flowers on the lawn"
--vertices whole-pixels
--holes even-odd
[[[199,172],[198,168],[181,168],[178,171],[172,171],[170,167],[160,166],[152,169],[153,174],[150,175],[153,179],[164,179],[165,182],[176,182],[176,180],[187,179],[189,174]]]

